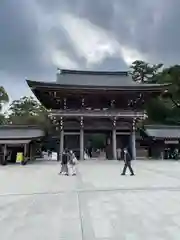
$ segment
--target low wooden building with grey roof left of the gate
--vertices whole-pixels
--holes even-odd
[[[33,158],[35,143],[42,139],[44,131],[37,126],[0,125],[0,162],[16,162],[17,152],[24,160]]]

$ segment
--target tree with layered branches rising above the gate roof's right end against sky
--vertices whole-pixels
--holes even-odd
[[[136,60],[130,66],[130,73],[135,82],[153,83],[156,82],[156,75],[162,70],[163,64],[150,65],[147,62]]]

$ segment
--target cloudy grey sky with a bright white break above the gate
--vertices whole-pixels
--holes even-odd
[[[57,67],[126,70],[136,59],[180,60],[180,0],[1,0],[0,85],[30,94],[25,78]]]

